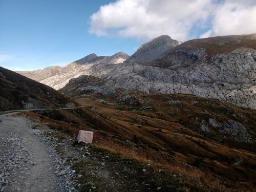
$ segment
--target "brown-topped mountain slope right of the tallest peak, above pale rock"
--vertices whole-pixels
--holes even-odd
[[[256,60],[256,55],[250,53],[251,50],[256,50],[256,33],[188,40],[175,47],[168,55],[148,62],[148,65],[161,68],[175,68],[177,63],[182,67],[184,63],[193,64],[196,61],[211,63],[219,59],[222,62],[221,57],[231,53],[240,54],[241,49],[244,49],[244,52],[248,51],[246,57],[252,58],[254,61]],[[232,59],[236,58],[230,58],[230,62]],[[238,61],[236,60],[236,62]],[[252,60],[249,62],[252,62]]]

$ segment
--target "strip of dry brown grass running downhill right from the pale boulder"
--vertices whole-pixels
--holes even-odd
[[[167,156],[156,156],[154,152],[138,150],[132,144],[117,143],[110,138],[104,138],[97,135],[94,138],[94,147],[101,148],[112,154],[120,155],[125,159],[137,160],[141,163],[150,163],[155,169],[162,170],[167,174],[177,175],[180,182],[186,185],[192,185],[203,191],[240,191],[242,188],[231,188],[228,181],[224,178],[218,178],[210,172],[202,172],[202,170],[186,166],[185,163],[171,163],[167,160]],[[233,185],[233,184],[231,184]],[[229,187],[228,187],[229,186]]]

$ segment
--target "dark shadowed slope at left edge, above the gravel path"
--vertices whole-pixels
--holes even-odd
[[[76,106],[56,90],[0,67],[0,110],[53,109]]]

